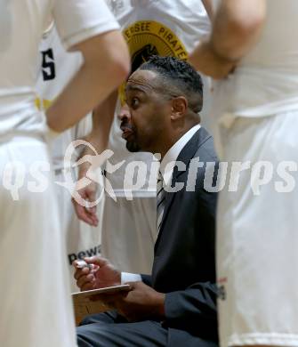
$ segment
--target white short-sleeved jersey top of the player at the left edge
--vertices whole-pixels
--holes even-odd
[[[35,87],[38,44],[51,17],[67,49],[117,28],[106,4],[97,0],[1,1],[0,135],[45,129],[43,114],[35,105]]]

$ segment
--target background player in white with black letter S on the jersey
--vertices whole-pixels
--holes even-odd
[[[52,22],[44,32],[40,50],[40,72],[36,84],[38,93],[37,103],[46,110],[54,101],[65,85],[77,73],[83,63],[80,52],[67,52],[60,42],[57,29]],[[52,141],[51,155],[55,182],[65,183],[68,177],[65,175],[64,157],[66,150],[72,141],[83,139],[92,130],[92,115],[88,114],[77,125],[69,128]],[[73,157],[76,159],[76,156]],[[72,170],[73,180],[76,178],[76,170]],[[77,219],[71,203],[71,192],[55,184],[58,193],[59,212],[62,230],[66,235],[66,254],[68,262],[70,289],[77,292],[77,284],[73,277],[72,262],[85,256],[100,254],[101,230],[100,226],[94,230],[92,226]],[[101,205],[97,206],[101,219]]]

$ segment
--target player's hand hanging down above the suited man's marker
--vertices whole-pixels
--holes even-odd
[[[80,179],[86,177],[86,173],[89,167],[90,165],[88,164],[80,166],[79,172],[78,172],[78,182]],[[96,185],[96,182],[92,182],[90,179],[89,181],[90,183],[85,188],[81,190],[77,190],[77,192],[79,193],[81,198],[84,199],[85,201],[93,202],[96,200],[97,185]],[[72,203],[74,205],[77,218],[80,221],[86,222],[87,224],[93,227],[98,226],[99,220],[96,215],[96,206],[93,206],[93,207],[82,206],[74,198],[72,198]]]

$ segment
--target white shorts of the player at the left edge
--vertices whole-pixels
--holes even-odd
[[[0,139],[0,346],[74,347],[52,172],[38,162],[49,163],[41,139]]]

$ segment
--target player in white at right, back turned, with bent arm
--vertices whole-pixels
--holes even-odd
[[[220,79],[216,140],[241,163],[218,206],[221,346],[298,346],[298,3],[213,4],[191,61]]]

